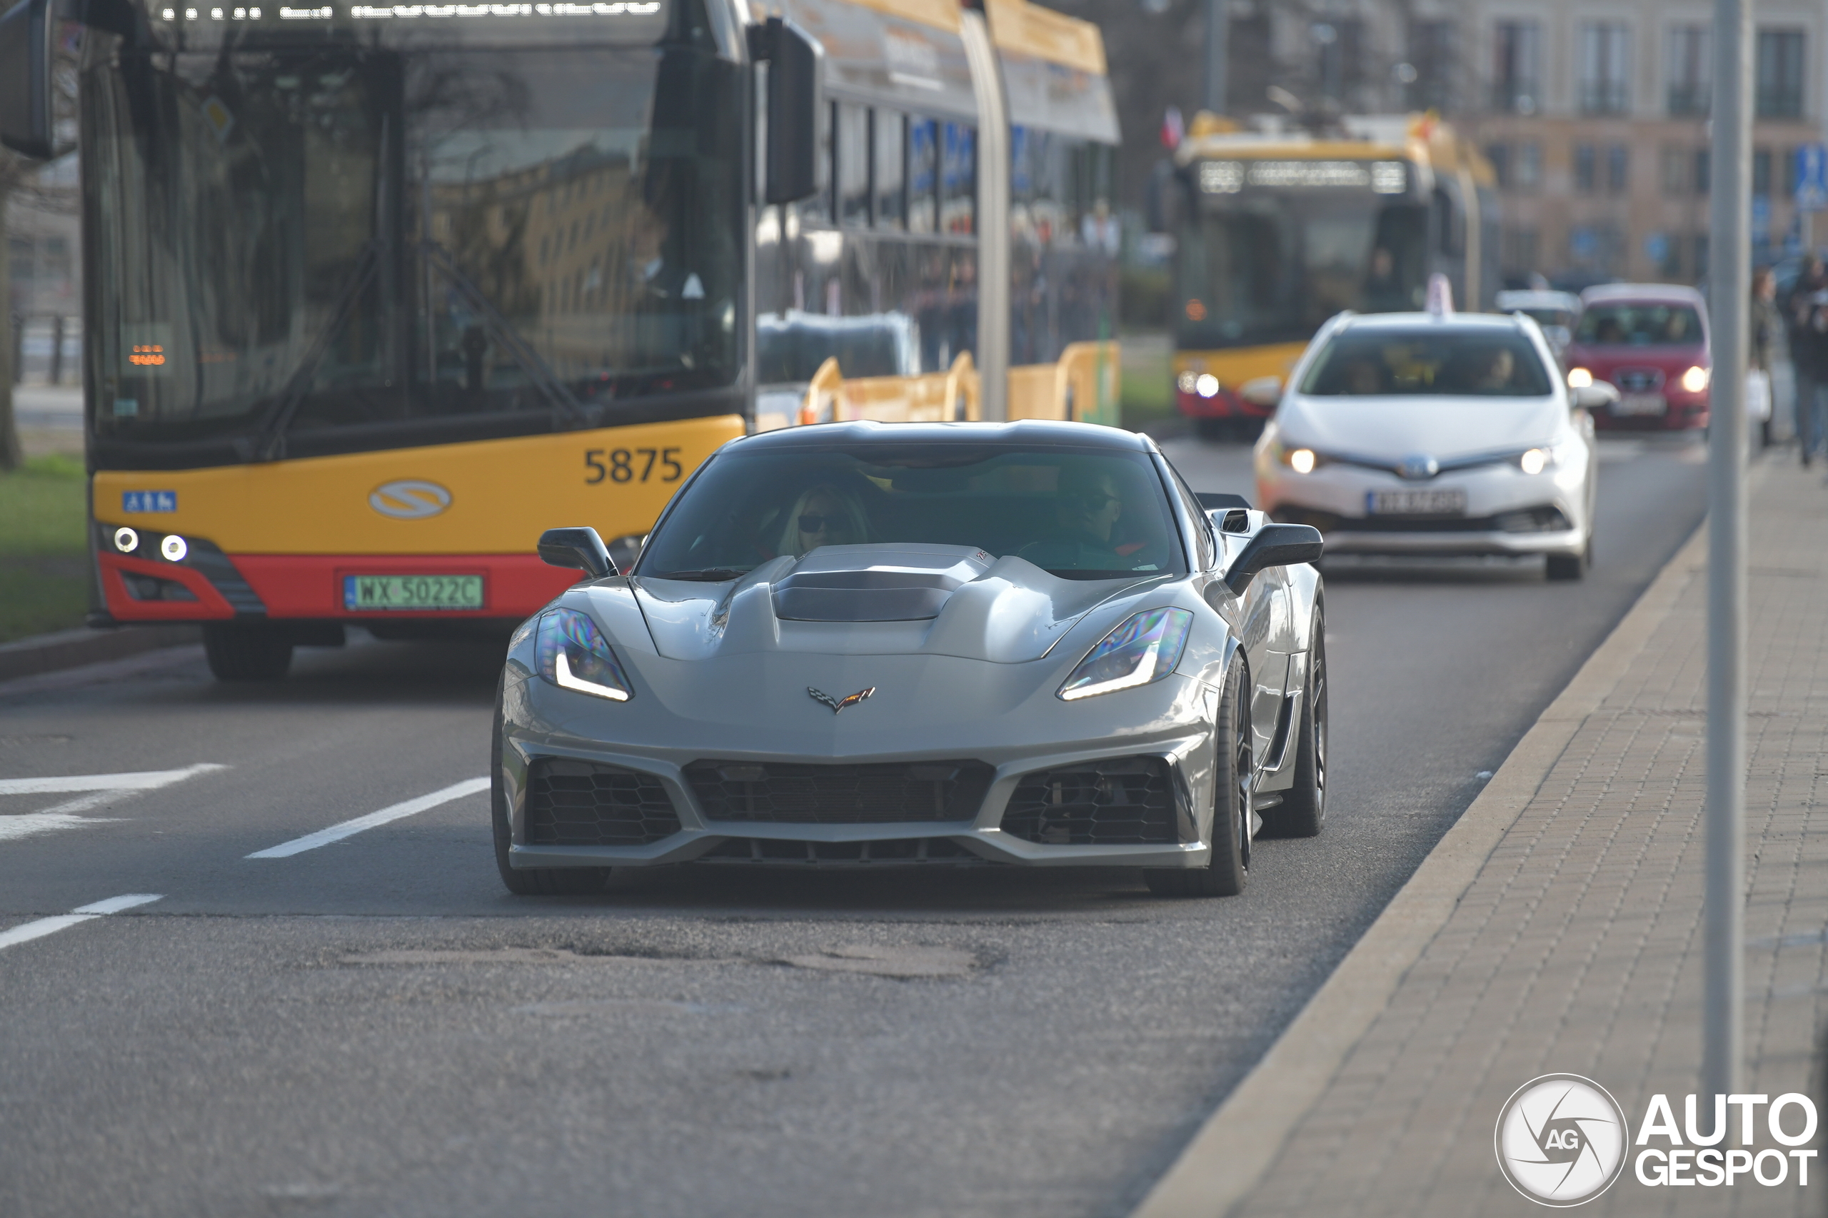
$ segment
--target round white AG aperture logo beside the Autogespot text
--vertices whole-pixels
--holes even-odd
[[[1578,1074],[1519,1086],[1497,1116],[1493,1147],[1510,1185],[1539,1205],[1585,1205],[1625,1170],[1625,1110]]]

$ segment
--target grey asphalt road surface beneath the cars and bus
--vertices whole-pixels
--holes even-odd
[[[1249,488],[1241,448],[1170,455]],[[1329,823],[1261,841],[1232,900],[728,869],[510,898],[483,794],[247,858],[481,777],[499,651],[0,686],[0,1213],[1121,1214],[1693,530],[1702,475],[1698,446],[1609,444],[1583,583],[1329,571]]]

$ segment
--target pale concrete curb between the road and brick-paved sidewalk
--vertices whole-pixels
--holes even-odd
[[[1759,466],[1753,466],[1753,477]],[[1689,580],[1707,565],[1706,521],[1429,850],[1276,1044],[1219,1105],[1132,1218],[1221,1218],[1256,1189],[1397,984],[1446,925],[1581,722],[1618,688]]]

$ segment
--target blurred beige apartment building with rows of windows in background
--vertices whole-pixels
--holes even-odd
[[[1810,240],[1828,2],[1759,0],[1753,241]],[[1435,108],[1488,152],[1506,276],[1695,282],[1707,263],[1709,0],[1232,0],[1227,110]],[[1813,241],[1828,243],[1828,214]]]

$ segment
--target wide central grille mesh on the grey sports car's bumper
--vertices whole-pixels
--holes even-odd
[[[982,761],[686,766],[686,781],[707,819],[775,825],[969,821],[993,775]]]

